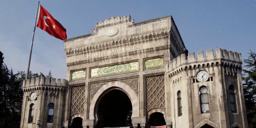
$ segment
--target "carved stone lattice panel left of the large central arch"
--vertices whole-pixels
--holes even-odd
[[[75,114],[84,114],[84,94],[85,85],[72,87],[71,116]]]

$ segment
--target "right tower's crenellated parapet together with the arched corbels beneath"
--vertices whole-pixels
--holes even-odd
[[[225,49],[216,49],[214,55],[213,50],[210,49],[206,51],[206,56],[203,55],[203,51],[198,51],[197,58],[195,57],[195,53],[188,53],[187,60],[185,60],[185,54],[182,54],[168,62],[166,72],[169,77],[172,77],[182,71],[214,66],[224,66],[225,74],[227,75],[236,75],[238,71],[241,73],[241,53],[227,51]]]

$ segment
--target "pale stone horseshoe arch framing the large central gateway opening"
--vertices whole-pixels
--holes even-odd
[[[128,95],[130,98],[130,101],[132,103],[132,117],[139,117],[139,100],[137,97],[137,94],[128,86],[127,84],[119,81],[113,81],[108,82],[107,84],[104,84],[97,93],[93,96],[93,99],[90,102],[90,108],[89,108],[89,119],[95,119],[96,113],[95,113],[95,105],[97,104],[97,101],[99,97],[101,96],[104,91],[108,90],[109,88],[121,88],[121,90]]]

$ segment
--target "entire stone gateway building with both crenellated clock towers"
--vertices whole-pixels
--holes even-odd
[[[20,128],[247,128],[241,53],[188,53],[172,16],[64,40],[66,79],[23,82]]]

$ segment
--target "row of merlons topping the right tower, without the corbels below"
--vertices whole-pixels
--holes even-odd
[[[192,63],[192,62],[203,62],[215,59],[225,59],[236,62],[242,62],[241,53],[234,51],[227,51],[226,49],[216,49],[216,55],[213,53],[213,49],[206,50],[206,57],[203,55],[203,51],[197,52],[197,58],[195,53],[188,53],[188,60],[185,60],[185,54],[182,54],[168,63],[169,68],[175,68],[181,64]]]

